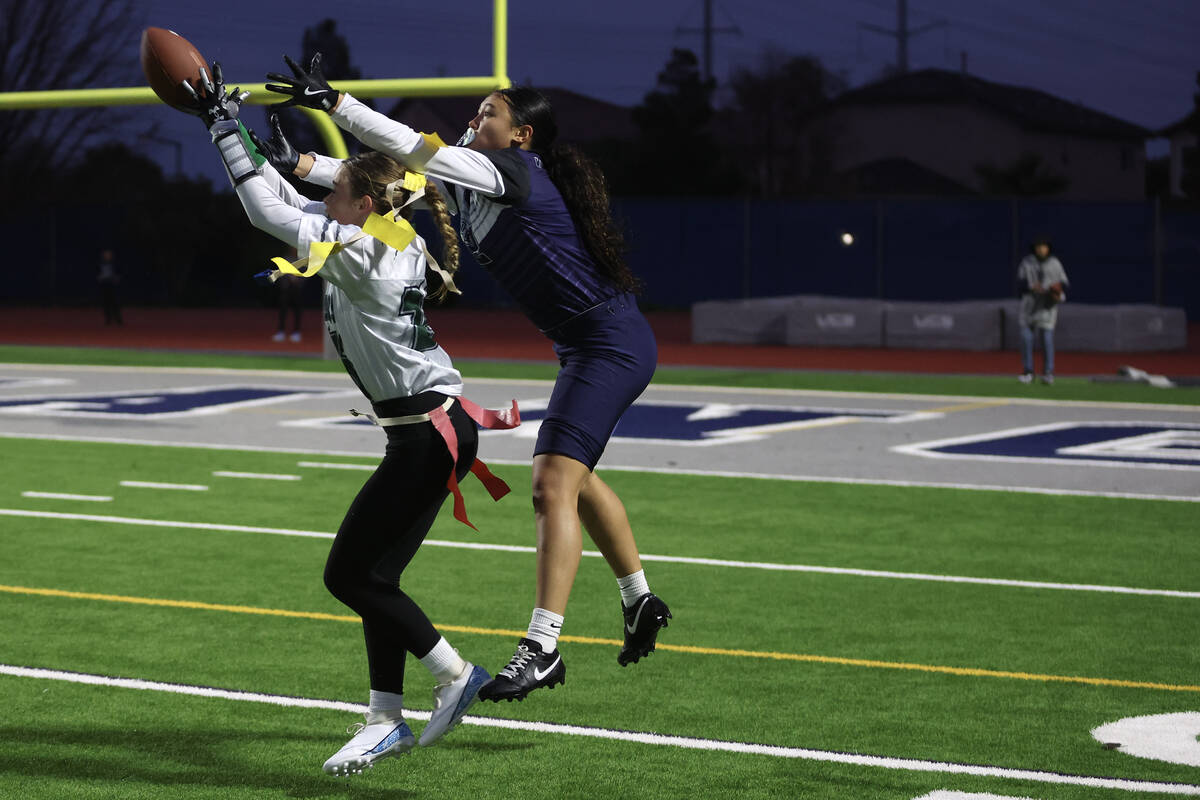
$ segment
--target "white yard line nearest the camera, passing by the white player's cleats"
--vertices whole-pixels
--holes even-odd
[[[113,688],[132,688],[151,692],[166,692],[173,694],[188,694],[221,700],[239,700],[248,703],[264,703],[286,708],[323,709],[331,711],[346,711],[350,714],[362,714],[365,705],[358,703],[346,703],[341,700],[325,700],[305,697],[288,697],[282,694],[265,694],[260,692],[241,692],[236,690],[214,688],[210,686],[190,686],[186,684],[167,684],[161,681],[137,680],[131,678],[110,678],[108,675],[95,675],[86,673],[62,672],[55,669],[37,669],[32,667],[14,667],[0,664],[0,674],[14,678],[30,678],[38,680],[58,680],[72,684],[85,684],[92,686],[107,686]],[[413,720],[428,720],[428,711],[406,710],[406,717]],[[720,739],[696,739],[692,736],[672,736],[660,733],[643,733],[637,730],[613,730],[610,728],[596,728],[574,724],[560,724],[557,722],[524,722],[521,720],[500,720],[484,716],[466,716],[464,724],[473,724],[488,728],[504,728],[508,730],[520,730],[526,733],[550,734],[560,736],[584,736],[589,739],[607,739],[611,741],[623,741],[637,745],[653,745],[660,747],[678,747],[683,750],[704,750],[745,756],[767,756],[773,758],[797,758],[811,762],[824,762],[834,764],[848,764],[852,766],[870,766],[878,769],[905,770],[912,772],[934,772],[941,775],[974,775],[980,777],[994,777],[1012,781],[1033,781],[1037,783],[1054,783],[1062,786],[1082,786],[1096,789],[1116,789],[1120,792],[1156,792],[1162,794],[1200,795],[1200,786],[1189,783],[1160,783],[1156,781],[1138,781],[1120,777],[1096,777],[1091,775],[1069,775],[1063,772],[1051,772],[1045,770],[1012,769],[1006,766],[991,766],[986,764],[960,764],[954,762],[930,762],[916,758],[900,758],[890,756],[870,756],[862,753],[842,753],[828,750],[810,750],[806,747],[785,747],[780,745],[763,745],[743,741],[725,741]]]

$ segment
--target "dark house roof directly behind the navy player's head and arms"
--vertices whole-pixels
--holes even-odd
[[[570,89],[539,88],[554,109],[558,136],[564,142],[599,142],[602,139],[634,139],[637,128],[632,113],[595,97]],[[454,143],[467,122],[475,116],[480,97],[412,97],[397,102],[386,112],[392,119],[426,133],[437,132],[445,142]]]

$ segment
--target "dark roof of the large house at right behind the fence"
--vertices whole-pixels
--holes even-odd
[[[1024,128],[1100,139],[1148,139],[1153,133],[1037,89],[992,83],[947,70],[919,70],[844,92],[827,109],[893,104],[979,106]]]

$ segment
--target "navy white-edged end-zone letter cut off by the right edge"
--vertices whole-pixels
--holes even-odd
[[[1200,425],[1052,422],[892,450],[930,458],[1200,469]]]

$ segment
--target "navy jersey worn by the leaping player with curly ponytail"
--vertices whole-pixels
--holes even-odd
[[[538,154],[517,148],[482,154],[504,179],[488,197],[448,184],[458,235],[542,332],[619,294],[596,269],[563,196]]]

